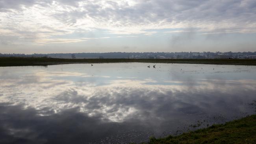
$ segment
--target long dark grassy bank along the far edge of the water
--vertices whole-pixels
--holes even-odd
[[[256,59],[57,59],[0,57],[0,66],[47,66],[69,63],[189,63],[215,65],[256,65]]]

